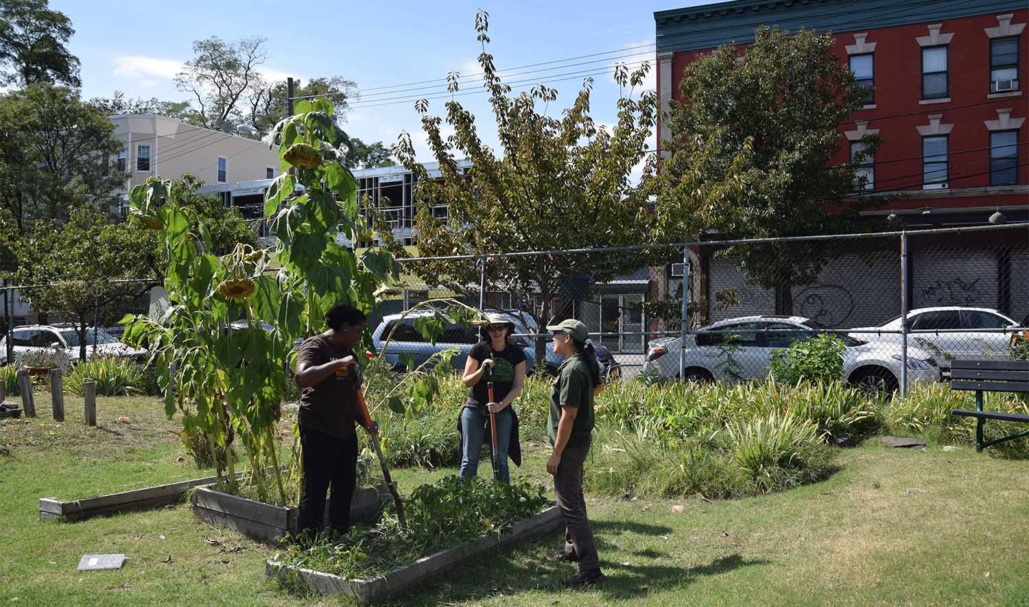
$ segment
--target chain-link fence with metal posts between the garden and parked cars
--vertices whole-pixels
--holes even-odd
[[[507,315],[516,327],[510,343],[531,372],[557,369],[562,358],[546,326],[575,318],[586,323],[611,378],[758,379],[786,368],[782,349],[831,347],[812,342],[831,334],[843,342],[844,379],[901,391],[946,378],[954,359],[1025,356],[1029,325],[1026,224],[401,263],[400,283],[369,319],[377,350],[398,369],[442,349],[456,349],[451,364],[463,369],[485,338],[481,328],[453,322],[434,344],[427,340],[418,319],[433,315],[426,302],[439,299]],[[33,290],[43,288],[63,287],[0,289],[0,363],[58,348],[74,360],[86,325],[108,327],[86,330],[88,354],[117,348],[116,320],[161,299],[141,291],[130,305],[107,305],[77,285],[84,301],[78,314],[46,318],[33,307],[40,299]]]

